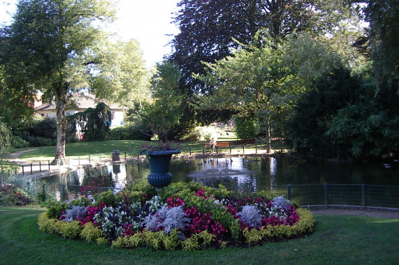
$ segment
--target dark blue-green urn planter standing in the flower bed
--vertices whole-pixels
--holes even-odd
[[[179,150],[153,150],[149,152],[150,174],[148,182],[156,188],[164,188],[172,182],[172,174],[169,173],[172,155],[180,153]]]

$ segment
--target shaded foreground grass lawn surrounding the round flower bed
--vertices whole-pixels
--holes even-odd
[[[43,234],[44,209],[0,207],[1,264],[398,264],[399,220],[315,215],[303,239],[202,251],[115,249]]]

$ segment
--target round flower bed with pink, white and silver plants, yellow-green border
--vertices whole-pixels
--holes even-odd
[[[196,250],[303,236],[312,232],[314,220],[284,197],[173,183],[158,192],[150,185],[133,185],[116,194],[55,202],[39,215],[38,226],[115,247]]]

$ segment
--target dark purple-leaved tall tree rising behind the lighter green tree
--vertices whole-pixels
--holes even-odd
[[[214,63],[231,55],[238,43],[249,44],[255,33],[267,29],[270,38],[284,39],[290,33],[310,31],[315,35],[332,33],[352,13],[346,0],[182,0],[175,24],[180,33],[172,40],[173,59],[182,70],[180,89],[197,97],[214,93],[214,86],[195,79],[203,75],[203,63]],[[339,27],[340,29],[340,27]],[[334,35],[333,35],[334,37]],[[235,42],[233,40],[238,40]],[[336,39],[340,39],[337,37]],[[334,43],[333,38],[330,43]],[[344,50],[344,49],[342,49]],[[187,111],[189,112],[189,111]],[[191,112],[194,114],[194,112]],[[196,112],[204,114],[203,112]],[[217,114],[226,114],[219,111]]]

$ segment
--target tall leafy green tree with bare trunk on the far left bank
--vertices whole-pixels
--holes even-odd
[[[131,89],[113,71],[111,64],[120,56],[100,28],[114,15],[108,0],[20,0],[13,23],[2,29],[0,60],[8,86],[24,95],[40,90],[45,99],[55,100],[55,162],[67,162],[65,109],[73,93],[89,91],[106,99]]]

